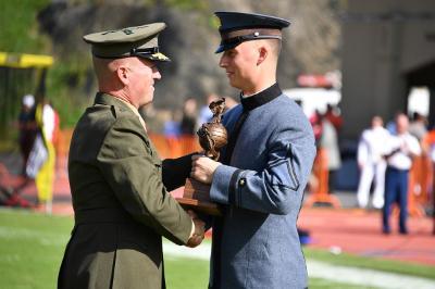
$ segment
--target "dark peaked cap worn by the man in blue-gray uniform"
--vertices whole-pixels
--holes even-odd
[[[263,14],[243,12],[214,12],[221,21],[221,43],[215,53],[237,47],[244,41],[282,39],[281,29],[290,22]]]

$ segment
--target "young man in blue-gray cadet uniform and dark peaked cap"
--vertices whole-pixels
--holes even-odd
[[[220,162],[194,156],[191,176],[224,208],[213,222],[210,288],[306,288],[296,222],[315,155],[300,108],[283,95],[276,66],[283,18],[216,12],[220,66],[241,104],[223,116],[229,140]]]

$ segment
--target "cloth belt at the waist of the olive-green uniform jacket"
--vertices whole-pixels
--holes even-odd
[[[120,208],[76,211],[74,219],[76,225],[95,223],[132,223],[134,221],[127,212]]]

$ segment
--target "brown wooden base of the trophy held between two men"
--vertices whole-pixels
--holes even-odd
[[[210,201],[210,186],[187,178],[183,198],[176,198],[184,209],[191,209],[208,215],[221,215],[219,205]]]

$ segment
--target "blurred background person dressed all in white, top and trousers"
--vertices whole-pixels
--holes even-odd
[[[372,125],[361,134],[358,143],[358,166],[360,181],[358,185],[358,205],[366,208],[370,188],[374,179],[373,206],[382,209],[384,205],[384,186],[386,162],[383,158],[384,147],[389,139],[389,133],[384,128],[381,116],[372,118]]]

